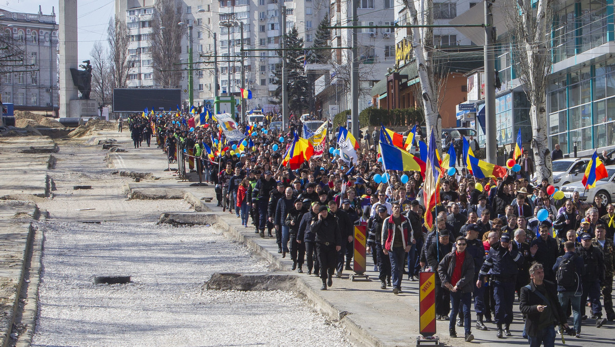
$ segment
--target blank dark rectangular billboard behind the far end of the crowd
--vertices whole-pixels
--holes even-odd
[[[181,89],[116,88],[113,89],[113,112],[143,112],[155,108],[165,111],[181,107]]]

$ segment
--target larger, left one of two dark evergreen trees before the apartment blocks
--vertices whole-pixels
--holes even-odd
[[[286,47],[288,49],[303,48],[303,39],[299,38],[299,32],[296,27],[290,28],[288,33],[284,35]],[[282,57],[282,51],[277,54]],[[308,100],[311,94],[308,78],[303,67],[303,57],[305,52],[301,50],[286,51],[286,70],[287,70],[287,88],[288,92],[288,108],[295,115],[300,115],[304,110],[308,110]],[[278,63],[274,71],[274,84],[277,84],[276,98],[282,102],[282,62]]]

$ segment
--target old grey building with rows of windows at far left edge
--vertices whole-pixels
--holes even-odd
[[[0,9],[1,34],[12,36],[23,51],[23,66],[10,62],[0,75],[2,102],[16,110],[57,110],[58,94],[58,25],[55,12],[36,14]]]

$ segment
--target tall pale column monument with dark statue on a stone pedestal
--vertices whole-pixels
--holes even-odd
[[[77,0],[60,0],[60,118],[81,118],[98,115],[98,103],[90,100],[90,83],[85,84],[87,74],[92,78],[92,67],[89,61],[78,70],[77,65]],[[88,71],[89,69],[89,71]],[[74,81],[73,71],[79,76]],[[76,84],[81,84],[82,89]],[[81,97],[79,97],[81,92]]]

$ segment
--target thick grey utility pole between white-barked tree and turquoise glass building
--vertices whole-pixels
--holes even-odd
[[[495,87],[495,29],[491,14],[492,0],[485,0],[485,154],[488,163],[496,163],[498,142],[496,140],[496,87]]]

